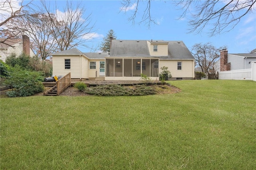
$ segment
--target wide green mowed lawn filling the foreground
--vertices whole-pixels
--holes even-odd
[[[256,82],[182,92],[1,98],[1,169],[256,169]]]

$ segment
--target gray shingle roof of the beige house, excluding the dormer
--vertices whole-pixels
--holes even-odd
[[[82,53],[76,48],[60,51],[54,55],[86,55],[91,59],[104,59],[105,57],[145,57],[160,59],[194,59],[184,42],[154,40],[152,43],[168,43],[168,55],[151,56],[148,49],[151,40],[112,40],[110,54],[108,53]]]

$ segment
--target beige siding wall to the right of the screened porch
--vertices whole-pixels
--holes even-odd
[[[182,62],[182,69],[178,70],[178,62]],[[194,77],[194,61],[193,60],[159,60],[159,68],[166,66],[171,72],[172,77]],[[160,73],[162,70],[160,69]]]

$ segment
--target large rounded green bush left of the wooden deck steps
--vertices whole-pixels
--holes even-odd
[[[10,77],[6,83],[11,85],[14,91],[7,92],[9,97],[31,96],[35,93],[42,92],[44,86],[42,73],[36,71],[22,70],[16,66],[11,69]]]

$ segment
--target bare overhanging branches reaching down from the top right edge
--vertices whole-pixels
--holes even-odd
[[[133,23],[139,11],[139,4],[142,2],[139,0],[124,0],[122,2],[121,10],[124,11],[128,10],[132,5],[136,6],[136,10],[129,18]],[[156,22],[151,16],[150,2],[152,0],[146,0],[146,2],[148,5],[142,9],[144,14],[141,22],[145,22],[150,26],[150,24],[156,24]],[[255,10],[256,0],[178,0],[171,1],[171,3],[183,11],[180,18],[189,18],[189,33],[201,33],[206,26],[210,26],[208,34],[209,36],[214,36],[215,34],[232,30],[244,16],[252,13]]]

